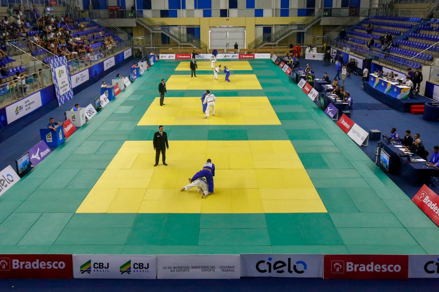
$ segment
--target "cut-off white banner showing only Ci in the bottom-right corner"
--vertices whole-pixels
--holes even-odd
[[[439,278],[439,255],[409,255],[409,278]]]

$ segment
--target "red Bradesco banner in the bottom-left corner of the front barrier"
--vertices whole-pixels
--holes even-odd
[[[73,278],[71,254],[0,254],[0,278]]]

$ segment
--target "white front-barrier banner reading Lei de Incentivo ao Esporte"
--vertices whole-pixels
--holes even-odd
[[[158,279],[238,279],[239,254],[158,255]]]

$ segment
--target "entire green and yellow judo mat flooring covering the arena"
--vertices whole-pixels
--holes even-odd
[[[437,226],[405,193],[272,60],[248,63],[233,90],[155,63],[0,196],[2,252],[437,254]],[[206,89],[218,124],[202,119]],[[252,102],[277,120],[242,123]],[[154,167],[159,123],[168,166]],[[180,192],[206,158],[217,193]]]

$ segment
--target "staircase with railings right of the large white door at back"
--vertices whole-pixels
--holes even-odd
[[[306,17],[303,21],[291,21],[288,25],[274,33],[264,33],[259,38],[248,44],[249,49],[261,48],[265,45],[277,45],[282,39],[293,32],[306,32],[308,28],[320,21],[323,15],[322,9],[316,9],[313,14]]]

